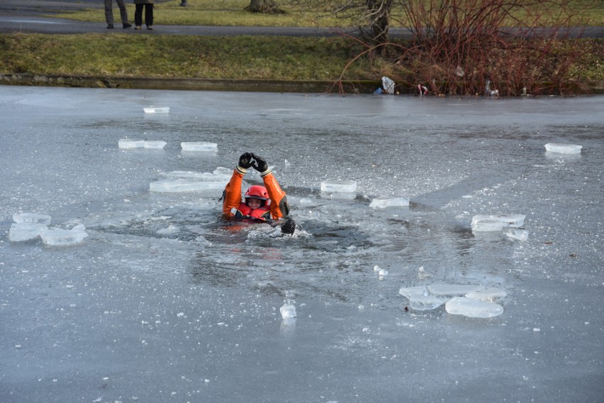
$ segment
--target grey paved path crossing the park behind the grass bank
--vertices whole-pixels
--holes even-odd
[[[161,2],[161,1],[160,1]],[[133,33],[133,29],[107,30],[104,22],[88,23],[60,18],[63,11],[77,11],[83,8],[103,8],[101,0],[1,0],[0,33]],[[114,16],[119,15],[114,6]],[[47,17],[43,15],[54,15]],[[131,16],[131,19],[133,16]],[[116,25],[119,26],[119,25]],[[354,33],[354,30],[348,30]],[[391,38],[410,39],[405,28],[391,28]],[[146,35],[285,35],[285,36],[335,36],[342,30],[334,28],[287,28],[287,27],[233,27],[233,26],[189,26],[155,25],[155,30],[145,31]],[[571,36],[604,38],[604,27],[572,28]]]

